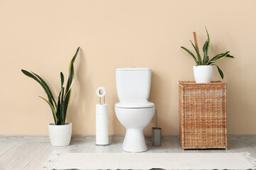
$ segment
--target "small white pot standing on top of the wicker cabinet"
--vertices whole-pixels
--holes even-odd
[[[213,77],[212,65],[193,66],[196,83],[210,83]]]

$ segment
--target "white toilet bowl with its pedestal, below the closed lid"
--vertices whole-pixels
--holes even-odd
[[[147,150],[143,130],[154,115],[154,106],[150,108],[115,107],[117,118],[126,128],[122,149],[126,152],[145,152]]]

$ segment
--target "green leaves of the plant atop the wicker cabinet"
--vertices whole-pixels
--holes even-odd
[[[228,52],[221,53],[219,55],[215,55],[215,57],[210,59],[210,57],[208,56],[208,51],[209,51],[209,47],[210,47],[210,36],[209,36],[207,28],[206,28],[206,33],[207,33],[208,39],[206,40],[206,42],[203,45],[203,58],[201,57],[199,50],[196,48],[195,45],[193,45],[193,42],[191,40],[190,40],[190,42],[191,42],[191,45],[193,46],[193,48],[196,50],[197,58],[195,55],[193,55],[192,52],[190,52],[188,49],[186,49],[186,47],[181,47],[181,50],[186,52],[188,55],[191,55],[193,57],[193,60],[195,60],[197,66],[198,65],[215,65],[218,68],[220,77],[223,79],[223,77],[224,77],[223,72],[220,69],[220,67],[218,67],[218,65],[215,64],[215,62],[223,59],[224,57],[230,57],[230,58],[234,58],[234,57],[229,55],[230,51],[228,51]]]

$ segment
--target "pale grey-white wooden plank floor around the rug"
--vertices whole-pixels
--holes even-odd
[[[41,169],[48,156],[53,153],[70,152],[123,152],[122,140],[124,136],[110,137],[110,145],[96,146],[93,136],[75,136],[68,147],[53,147],[46,136],[8,136],[0,135],[0,169],[21,170]],[[185,150],[181,149],[178,136],[165,136],[161,147],[152,147],[149,137],[146,137],[149,147],[147,152],[250,152],[256,157],[256,135],[228,136],[228,150]]]

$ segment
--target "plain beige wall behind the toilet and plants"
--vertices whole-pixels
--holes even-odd
[[[107,87],[110,134],[125,130],[114,113],[118,102],[114,69],[152,69],[149,101],[159,109],[164,135],[178,134],[179,80],[193,80],[192,50],[210,33],[210,56],[230,50],[235,60],[218,62],[228,82],[228,133],[256,133],[256,1],[0,1],[0,134],[46,135],[53,122],[46,96],[21,69],[41,75],[60,89],[78,46],[68,111],[73,134],[95,134],[98,86]],[[220,80],[214,69],[213,80]],[[145,132],[151,133],[154,119]]]

